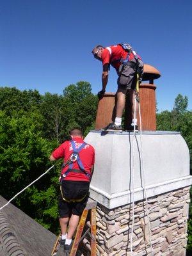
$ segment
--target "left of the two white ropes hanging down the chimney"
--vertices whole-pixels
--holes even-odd
[[[132,180],[132,227],[131,227],[131,255],[132,255],[132,236],[133,236],[133,228],[134,228],[134,141],[135,141],[135,119],[136,119],[136,95],[134,99],[134,130],[133,130],[133,138],[132,138],[132,168],[131,168],[131,180]]]

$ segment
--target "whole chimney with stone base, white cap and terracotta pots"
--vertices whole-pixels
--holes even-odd
[[[98,256],[186,255],[189,149],[180,132],[156,131],[153,81],[159,76],[145,65],[143,80],[149,83],[140,85],[142,134],[99,131],[115,116],[115,93],[106,93],[95,130],[85,138],[96,153],[90,197],[98,202]],[[88,239],[84,246],[90,247]]]

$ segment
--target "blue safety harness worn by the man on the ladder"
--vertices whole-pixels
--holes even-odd
[[[70,172],[84,173],[84,175],[86,175],[86,177],[88,177],[88,179],[90,180],[91,175],[90,173],[86,172],[86,170],[84,170],[83,163],[81,162],[81,159],[79,157],[79,152],[81,152],[81,150],[86,146],[86,143],[84,142],[83,144],[81,144],[79,148],[76,148],[76,143],[73,140],[71,140],[70,143],[72,145],[73,152],[70,155],[70,158],[68,159],[68,161],[65,164],[62,164],[62,169],[65,168],[65,166],[68,166],[68,170],[65,173],[63,173],[63,175],[60,176],[60,183],[65,179],[65,177],[67,177],[68,173]],[[77,164],[79,165],[79,170],[73,168],[74,163],[76,161],[77,161]],[[66,202],[81,202],[87,195],[87,194],[84,195],[83,198],[80,198],[80,199],[66,199],[63,196],[61,186],[60,186],[60,191],[61,191],[61,196],[63,200],[65,200]]]

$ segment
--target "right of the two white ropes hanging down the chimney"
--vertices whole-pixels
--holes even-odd
[[[141,180],[143,180],[143,188],[144,188],[144,196],[145,196],[145,202],[146,202],[146,212],[147,212],[147,220],[148,220],[148,232],[150,237],[150,250],[152,253],[152,256],[154,256],[154,250],[152,248],[152,233],[151,233],[151,225],[150,225],[150,219],[148,216],[148,200],[147,200],[147,190],[145,186],[145,168],[144,168],[144,161],[143,161],[143,145],[142,145],[142,123],[141,123],[141,108],[140,108],[140,102],[139,102],[139,116],[140,116],[140,145],[141,145],[141,172],[142,177]],[[145,209],[144,209],[145,211]]]

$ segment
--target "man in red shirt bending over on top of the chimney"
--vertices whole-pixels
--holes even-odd
[[[93,55],[97,60],[102,61],[102,90],[98,93],[99,99],[102,99],[106,92],[108,83],[109,66],[112,65],[118,74],[118,90],[116,102],[116,118],[115,122],[109,124],[104,129],[106,131],[122,131],[122,114],[125,109],[125,96],[129,93],[132,102],[132,124],[129,130],[138,130],[137,119],[134,118],[134,108],[136,108],[136,116],[138,114],[138,103],[135,106],[136,97],[136,74],[139,74],[139,81],[143,76],[143,61],[140,56],[132,50],[129,44],[118,44],[110,47],[97,45],[93,51]]]

